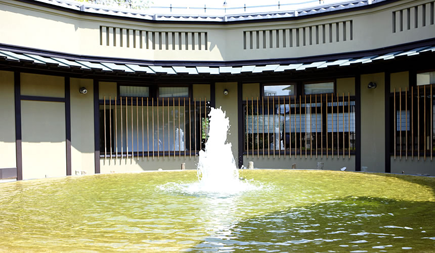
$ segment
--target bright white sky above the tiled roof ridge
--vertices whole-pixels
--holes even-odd
[[[153,3],[151,3],[151,1]],[[172,7],[197,7],[201,9],[172,9],[172,12],[168,8],[165,9],[156,9],[151,8],[149,11],[156,14],[191,14],[191,15],[231,15],[231,14],[244,14],[244,13],[258,13],[258,12],[278,12],[278,11],[291,11],[302,8],[309,7],[317,7],[320,6],[319,0],[227,0],[228,6],[227,8],[236,8],[243,7],[246,4],[246,7],[252,6],[264,6],[264,5],[275,5],[273,7],[262,7],[262,8],[247,8],[246,11],[244,9],[227,9],[224,10],[210,10],[207,9],[204,12],[204,5],[206,8],[223,8],[224,0],[150,0],[151,7],[169,7],[172,4]],[[323,4],[332,4],[337,2],[344,2],[343,0],[322,0]],[[280,6],[278,9],[278,3],[283,4],[291,4]],[[323,5],[322,4],[322,5]]]

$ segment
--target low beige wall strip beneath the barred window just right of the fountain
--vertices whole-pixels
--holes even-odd
[[[349,158],[346,154],[343,158],[342,155],[339,157],[329,156],[326,158],[326,155],[321,158],[320,155],[316,158],[315,155],[310,158],[310,154],[308,155],[308,158],[305,158],[305,155],[302,155],[302,158],[300,158],[299,155],[295,156],[292,155],[291,158],[287,154],[286,157],[284,157],[283,154],[281,154],[281,157],[278,157],[277,154],[275,154],[275,158],[271,155],[269,158],[267,155],[263,158],[263,154],[260,154],[259,158],[257,155],[250,154],[249,157],[247,155],[243,155],[243,165],[247,167],[248,162],[253,161],[254,162],[254,168],[291,168],[293,163],[296,163],[296,168],[300,169],[315,169],[317,168],[317,162],[323,162],[323,169],[324,170],[340,170],[342,167],[346,167],[347,171],[355,171],[355,155],[351,155]]]

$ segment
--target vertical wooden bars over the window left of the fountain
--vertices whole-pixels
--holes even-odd
[[[160,159],[162,156],[164,160],[166,156],[176,158],[178,155],[180,159],[188,154],[191,158],[192,153],[196,154],[207,142],[209,106],[206,98],[104,96],[100,109],[101,139],[104,139],[101,157],[104,159]],[[197,138],[198,133],[200,138]],[[257,145],[257,153],[258,150]]]

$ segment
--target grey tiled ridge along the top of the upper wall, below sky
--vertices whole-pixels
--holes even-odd
[[[319,5],[315,8],[302,8],[290,11],[244,13],[232,15],[174,15],[174,14],[154,14],[149,10],[136,10],[127,8],[115,8],[100,4],[76,2],[73,0],[33,0],[34,2],[54,5],[75,11],[105,14],[112,16],[138,18],[143,20],[159,21],[211,21],[211,22],[232,22],[255,19],[288,18],[333,12],[338,10],[351,9],[355,7],[368,6],[387,0],[348,0],[339,3]]]

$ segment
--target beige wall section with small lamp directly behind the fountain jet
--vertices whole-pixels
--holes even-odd
[[[227,134],[227,143],[231,143],[234,159],[237,163],[238,157],[238,103],[237,103],[237,82],[216,82],[216,108],[222,106],[222,110],[226,112],[230,119],[230,129]],[[224,95],[222,91],[228,89],[228,95]]]

